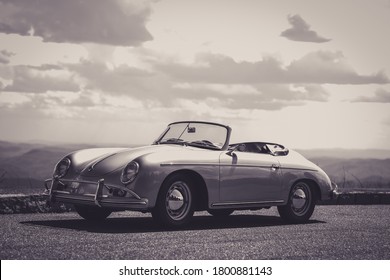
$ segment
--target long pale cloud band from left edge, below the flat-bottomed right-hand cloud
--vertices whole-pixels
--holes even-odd
[[[104,112],[134,106],[144,110],[152,107],[178,110],[183,104],[193,108],[190,104],[202,107],[204,102],[227,110],[279,110],[328,98],[328,93],[315,84],[175,83],[158,71],[127,65],[113,67],[90,60],[77,64],[14,66],[12,72],[12,83],[3,92],[28,99],[15,103],[9,95],[11,100],[5,105],[26,112],[27,108],[35,108],[55,117],[77,114],[82,117],[83,108]]]

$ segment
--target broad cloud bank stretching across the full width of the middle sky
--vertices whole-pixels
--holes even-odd
[[[19,110],[34,107],[42,114],[82,117],[86,114],[83,108],[114,115],[115,111],[134,108],[175,111],[183,104],[187,111],[204,108],[204,104],[231,113],[280,110],[328,101],[330,94],[323,83],[389,82],[383,73],[359,75],[338,52],[310,53],[289,65],[273,57],[237,62],[214,54],[199,56],[191,65],[159,62],[157,58],[143,62],[147,67],[142,69],[91,59],[40,66],[3,65],[8,71],[3,71],[7,84],[2,91],[28,96],[28,102],[19,104],[22,107],[12,104],[15,110],[18,106]]]

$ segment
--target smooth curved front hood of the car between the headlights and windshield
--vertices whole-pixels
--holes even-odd
[[[69,155],[75,173],[86,177],[101,176],[118,169],[123,169],[133,159],[140,156],[178,149],[171,146],[145,146],[139,148],[98,148],[77,151]]]

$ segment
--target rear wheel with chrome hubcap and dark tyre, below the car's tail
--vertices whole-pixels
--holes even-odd
[[[305,182],[298,182],[291,188],[287,205],[278,206],[280,217],[289,223],[304,223],[313,214],[315,193]]]

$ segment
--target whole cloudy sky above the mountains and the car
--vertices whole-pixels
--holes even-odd
[[[390,149],[389,0],[0,0],[0,140]]]

